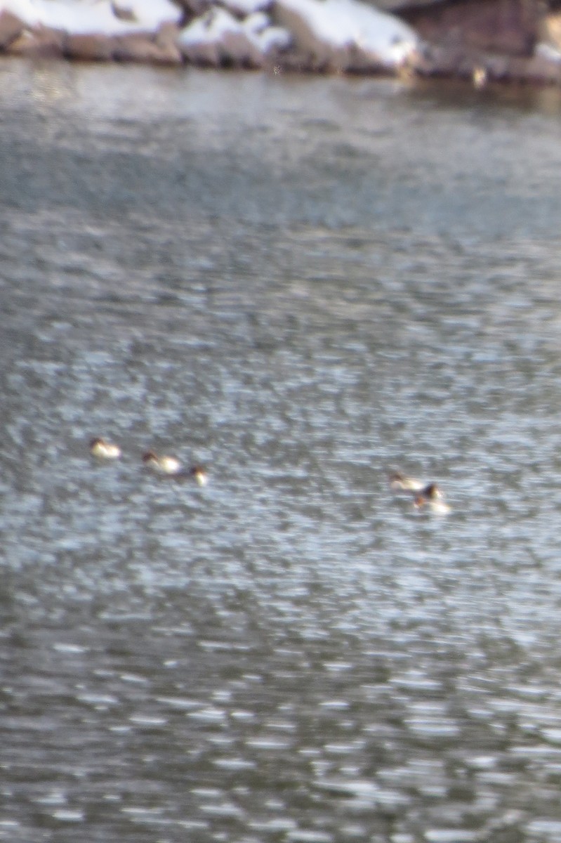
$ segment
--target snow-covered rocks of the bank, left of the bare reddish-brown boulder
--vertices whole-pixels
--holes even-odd
[[[360,0],[0,0],[0,50],[99,60],[395,71],[407,24]],[[193,11],[195,6],[195,11]]]

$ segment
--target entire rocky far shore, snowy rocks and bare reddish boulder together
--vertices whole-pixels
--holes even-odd
[[[0,55],[561,86],[537,0],[0,0]]]

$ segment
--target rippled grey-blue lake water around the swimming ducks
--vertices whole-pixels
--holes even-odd
[[[561,841],[558,93],[0,79],[0,840]]]

